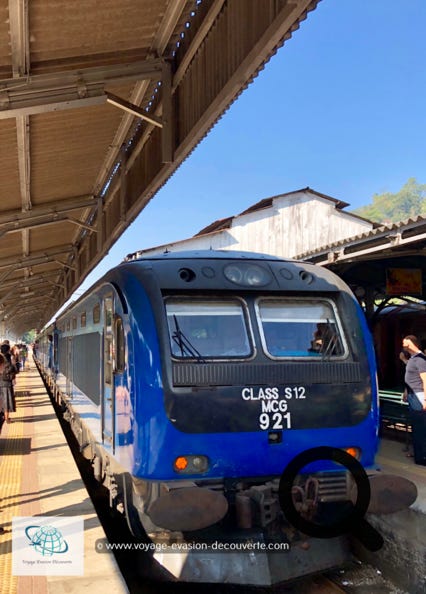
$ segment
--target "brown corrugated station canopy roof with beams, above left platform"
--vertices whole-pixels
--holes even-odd
[[[0,334],[50,319],[318,1],[0,0]]]

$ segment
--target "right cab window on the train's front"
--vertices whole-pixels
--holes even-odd
[[[343,335],[330,301],[262,299],[256,305],[263,348],[272,358],[345,356]]]

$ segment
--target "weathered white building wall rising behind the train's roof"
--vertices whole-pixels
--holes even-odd
[[[309,190],[273,198],[272,206],[232,219],[230,229],[144,250],[233,249],[295,258],[304,252],[348,239],[372,224],[336,208],[336,203]]]

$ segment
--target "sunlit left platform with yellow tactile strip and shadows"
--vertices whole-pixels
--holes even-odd
[[[4,530],[0,534],[1,594],[127,593],[114,556],[96,552],[95,542],[104,539],[105,532],[32,361],[18,374],[15,391],[16,413],[12,413],[10,424],[3,425],[0,436],[0,526]],[[80,542],[84,543],[84,551],[80,551],[80,575],[61,575],[67,571],[65,565],[65,569],[54,567],[51,572],[48,565],[52,561],[40,548],[39,537],[34,538],[41,524],[37,518],[46,516],[65,518],[66,522],[75,517],[82,522]],[[37,562],[45,563],[46,573],[55,575],[23,575],[19,567],[16,569],[16,557],[14,561],[12,554],[12,545],[14,551],[18,550],[15,522],[28,517],[32,520],[31,530],[26,529],[28,538],[32,538],[28,545],[38,546]],[[65,547],[68,550],[66,539],[60,541],[60,547],[55,551],[64,552]]]

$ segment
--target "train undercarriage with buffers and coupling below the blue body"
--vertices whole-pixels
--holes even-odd
[[[153,483],[132,477],[88,433],[72,400],[60,393],[49,375],[42,375],[96,480],[107,488],[110,507],[125,516],[136,539],[149,543],[147,549],[171,579],[268,586],[350,561],[346,535],[313,538],[286,521],[279,503],[279,477],[202,483]],[[302,517],[321,521],[324,510],[334,514],[339,502],[348,500],[351,485],[346,471],[298,476],[292,488],[294,506]],[[409,493],[406,484],[402,487],[405,492],[394,497],[392,509],[385,513],[415,500],[411,487]],[[380,489],[372,495],[378,509]]]

